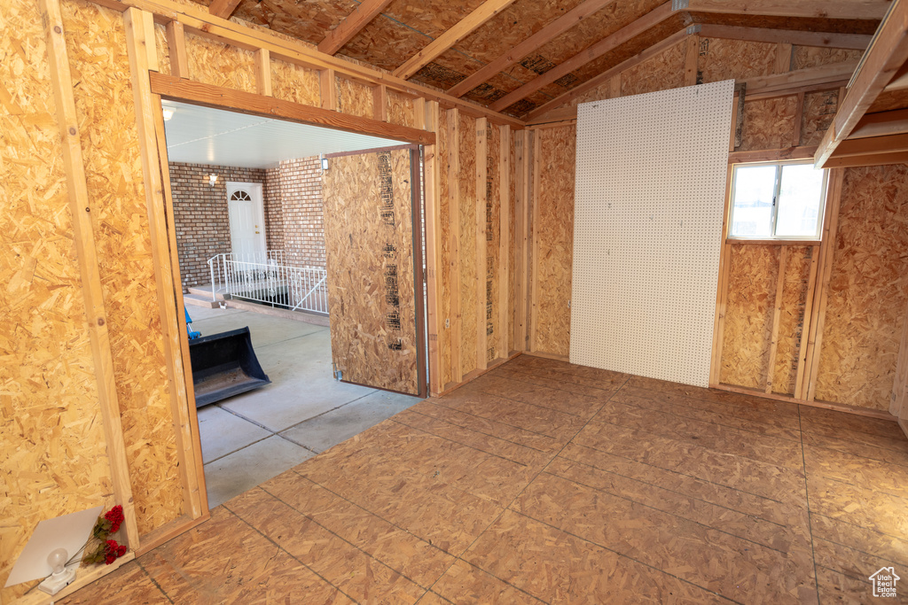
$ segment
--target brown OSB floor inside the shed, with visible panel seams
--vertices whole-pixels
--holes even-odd
[[[908,602],[906,511],[896,424],[520,356],[58,602]]]

